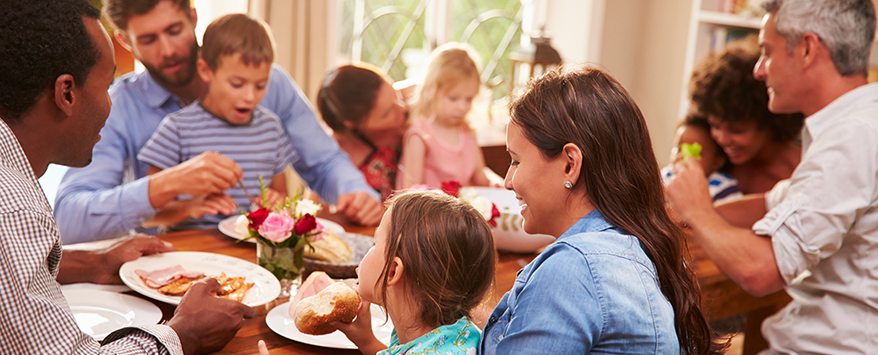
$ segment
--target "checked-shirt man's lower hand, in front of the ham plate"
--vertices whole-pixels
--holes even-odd
[[[168,326],[177,332],[183,353],[187,355],[215,352],[235,337],[244,319],[255,311],[241,302],[214,295],[221,289],[214,278],[192,284]]]

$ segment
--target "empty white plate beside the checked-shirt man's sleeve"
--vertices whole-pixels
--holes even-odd
[[[156,305],[121,293],[61,289],[79,329],[95,340],[104,340],[113,331],[124,327],[156,324],[162,311]]]

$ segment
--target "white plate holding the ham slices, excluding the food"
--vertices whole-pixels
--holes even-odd
[[[225,272],[226,276],[245,277],[246,282],[253,282],[254,285],[244,294],[242,303],[251,307],[266,304],[280,294],[280,282],[268,270],[246,260],[214,253],[178,251],[143,256],[122,264],[119,276],[128,287],[146,297],[179,304],[182,296],[163,295],[158,290],[147,287],[140,276],[134,273],[134,270],[153,271],[174,265],[180,265],[186,271],[203,272],[206,276],[219,276]]]

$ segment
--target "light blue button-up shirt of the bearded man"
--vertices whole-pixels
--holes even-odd
[[[156,213],[149,203],[148,166],[137,160],[137,153],[162,118],[182,108],[182,100],[147,71],[117,79],[110,98],[113,106],[91,164],[70,169],[61,180],[54,214],[64,244],[141,230],[140,224]],[[294,168],[324,200],[333,202],[341,194],[357,191],[380,198],[320,127],[293,79],[276,64],[260,105],[278,115],[300,158]]]

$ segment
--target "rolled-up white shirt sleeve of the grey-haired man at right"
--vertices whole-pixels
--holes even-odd
[[[787,284],[835,254],[876,197],[878,134],[862,123],[835,125],[808,147],[780,204],[753,225],[770,235]]]

